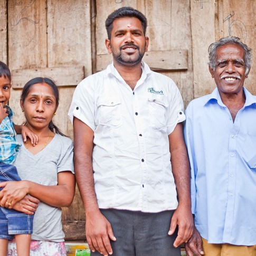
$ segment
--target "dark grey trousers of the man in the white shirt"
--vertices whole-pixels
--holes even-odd
[[[116,241],[111,241],[112,256],[180,256],[181,249],[174,248],[177,230],[168,235],[174,211],[143,213],[107,209],[101,213],[111,223]],[[91,252],[92,256],[102,255]]]

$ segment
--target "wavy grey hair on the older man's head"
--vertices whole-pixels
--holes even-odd
[[[216,67],[216,51],[220,46],[226,44],[236,44],[243,48],[245,52],[245,74],[249,73],[252,62],[252,49],[244,44],[239,37],[236,36],[226,36],[221,38],[219,41],[212,43],[208,48],[209,62],[208,65],[215,71]]]

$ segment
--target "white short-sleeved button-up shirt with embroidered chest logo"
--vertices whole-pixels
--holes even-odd
[[[94,131],[100,208],[160,212],[177,207],[168,135],[185,120],[181,93],[146,63],[141,69],[134,91],[111,64],[82,80],[73,95],[70,119]]]

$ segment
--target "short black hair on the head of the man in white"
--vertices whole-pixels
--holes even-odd
[[[138,18],[138,20],[141,22],[141,25],[143,26],[143,32],[144,35],[146,35],[146,29],[147,29],[147,18],[145,15],[138,10],[135,10],[132,7],[121,7],[117,9],[116,11],[109,14],[105,26],[108,33],[108,39],[111,38],[111,31],[113,29],[113,21],[115,21],[117,18],[124,18],[124,17],[134,17]]]

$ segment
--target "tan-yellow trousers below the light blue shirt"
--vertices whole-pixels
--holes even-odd
[[[204,256],[256,256],[256,245],[244,246],[229,243],[208,243],[202,238]]]

